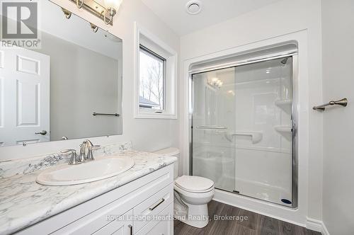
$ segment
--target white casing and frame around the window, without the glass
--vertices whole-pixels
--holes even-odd
[[[142,28],[135,22],[135,59],[134,59],[134,118],[144,119],[177,119],[177,52],[173,50],[165,42],[157,38],[148,30]],[[154,53],[158,57],[166,59],[166,80],[164,81],[164,110],[156,110],[152,108],[140,108],[139,92],[139,53],[140,45],[146,47],[147,50]]]

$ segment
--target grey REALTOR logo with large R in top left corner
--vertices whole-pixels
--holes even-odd
[[[36,47],[38,1],[1,1],[1,45]]]

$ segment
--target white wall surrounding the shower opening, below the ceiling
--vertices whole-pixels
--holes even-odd
[[[321,2],[319,0],[291,1],[284,0],[275,4],[265,6],[256,11],[246,13],[242,16],[233,18],[223,23],[212,25],[208,28],[198,30],[181,38],[181,64],[188,59],[198,59],[206,57],[215,52],[230,50],[236,47],[246,47],[250,43],[271,40],[278,36],[286,36],[303,30],[307,35],[307,54],[308,69],[304,75],[309,77],[308,102],[300,110],[305,115],[308,113],[309,120],[309,141],[307,174],[304,178],[305,185],[308,183],[307,190],[302,190],[299,194],[306,193],[306,208],[302,208],[302,219],[297,222],[304,224],[306,217],[321,219],[321,185],[322,185],[322,115],[311,110],[311,106],[322,102],[321,95]],[[302,56],[300,55],[300,56]],[[305,66],[306,66],[305,65]],[[188,68],[181,68],[186,71]],[[299,68],[304,69],[304,67]],[[301,77],[299,79],[302,79]],[[180,81],[180,96],[185,98],[188,91],[185,90],[187,78],[183,74]],[[182,89],[183,87],[183,89]],[[187,110],[184,101],[180,105],[181,116],[186,117]],[[188,122],[183,119],[181,125],[181,147],[183,152],[188,147],[185,143],[185,130],[183,129]],[[183,159],[187,161],[188,159]],[[305,164],[305,165],[307,165]],[[300,166],[302,167],[302,166]],[[308,193],[306,192],[308,191]]]

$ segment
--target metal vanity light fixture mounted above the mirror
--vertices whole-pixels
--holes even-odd
[[[101,18],[106,25],[113,25],[113,18],[118,12],[122,0],[70,0],[76,7],[85,9],[93,15]],[[103,4],[102,4],[103,2]],[[69,17],[70,18],[70,17]]]

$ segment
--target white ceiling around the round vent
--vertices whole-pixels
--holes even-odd
[[[280,0],[200,0],[202,11],[198,15],[190,15],[186,12],[185,4],[188,1],[142,0],[178,35],[192,33]]]

